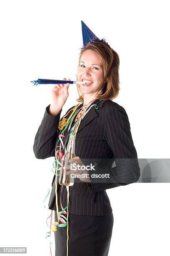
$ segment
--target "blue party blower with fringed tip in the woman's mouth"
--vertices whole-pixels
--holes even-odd
[[[86,84],[87,82],[82,82],[82,81],[67,81],[67,80],[53,80],[53,79],[40,79],[38,78],[37,80],[30,81],[33,83],[32,85],[37,85],[37,84]]]

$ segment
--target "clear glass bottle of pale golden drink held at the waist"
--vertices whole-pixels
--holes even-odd
[[[75,157],[75,135],[70,135],[66,152],[62,156],[60,178],[59,178],[60,185],[66,185],[66,186],[74,185],[74,177],[71,177],[71,174],[66,175],[67,170],[63,169],[63,166],[70,165],[70,163],[68,163],[68,160],[73,157]]]

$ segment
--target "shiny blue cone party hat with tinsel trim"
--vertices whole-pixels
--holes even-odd
[[[87,44],[92,44],[95,42],[106,42],[105,38],[99,39],[95,34],[90,30],[90,28],[85,25],[85,23],[81,20],[82,24],[82,40],[83,46],[80,50],[84,49]]]

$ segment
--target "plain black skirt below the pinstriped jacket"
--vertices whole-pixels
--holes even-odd
[[[112,212],[105,216],[69,214],[68,256],[107,256],[112,228]],[[55,256],[67,256],[67,227],[57,228],[55,232]]]

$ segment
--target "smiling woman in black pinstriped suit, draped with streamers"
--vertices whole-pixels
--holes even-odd
[[[130,123],[125,109],[112,100],[117,97],[119,88],[119,56],[103,41],[87,44],[80,52],[77,68],[77,91],[79,112],[72,120],[72,125],[83,115],[83,111],[90,110],[81,120],[75,141],[76,157],[80,165],[85,165],[80,159],[108,159],[107,169],[100,166],[97,173],[111,174],[111,180],[103,182],[92,180],[91,171],[76,169],[68,174],[88,174],[80,178],[80,182],[70,187],[69,195],[69,240],[68,255],[78,256],[107,256],[112,236],[113,214],[110,200],[105,189],[126,185],[138,181],[140,169],[138,161],[132,163],[130,159],[137,159],[130,132]],[[66,80],[66,78],[64,78]],[[67,79],[70,80],[70,79]],[[47,106],[42,123],[35,136],[34,153],[38,159],[55,156],[55,143],[60,131],[57,129],[62,106],[68,97],[69,84],[56,84],[52,88],[52,101]],[[97,107],[96,107],[97,106]],[[75,107],[75,106],[74,106]],[[72,107],[72,108],[74,108]],[[70,108],[65,118],[69,118]],[[69,127],[65,130],[65,143],[70,134]],[[109,159],[115,159],[116,166],[110,165]],[[128,159],[125,163],[117,159]],[[55,176],[52,181],[49,209],[55,210]],[[61,197],[61,201],[60,201]],[[57,202],[59,211],[67,205],[66,186],[60,186],[57,179]],[[57,228],[55,232],[55,255],[67,255],[67,227]]]

